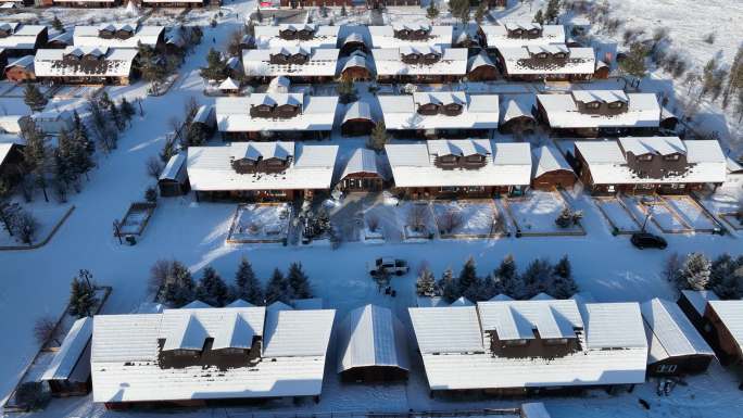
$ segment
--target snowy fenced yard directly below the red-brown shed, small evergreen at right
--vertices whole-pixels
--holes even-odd
[[[561,228],[555,219],[566,207],[557,192],[532,190],[525,198],[509,198],[508,215],[521,232],[526,233],[562,233],[580,232],[578,226]]]

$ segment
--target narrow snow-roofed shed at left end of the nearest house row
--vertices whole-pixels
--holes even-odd
[[[76,320],[41,376],[53,396],[80,396],[90,392],[91,317]]]

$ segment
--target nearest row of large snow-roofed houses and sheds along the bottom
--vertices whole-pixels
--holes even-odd
[[[407,309],[410,329],[375,305],[336,321],[336,311],[317,299],[267,307],[238,300],[223,308],[196,301],[98,315],[75,322],[42,380],[58,395],[92,388],[93,402],[121,409],[318,400],[331,341],[343,381],[404,380],[411,355],[420,355],[432,395],[616,391],[648,376],[703,372],[716,357],[726,365],[743,360],[743,301],[706,292],[685,291],[678,304],[544,293],[528,301],[424,302]]]

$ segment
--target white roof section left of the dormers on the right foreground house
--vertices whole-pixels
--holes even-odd
[[[475,306],[411,307],[420,353],[484,352]]]

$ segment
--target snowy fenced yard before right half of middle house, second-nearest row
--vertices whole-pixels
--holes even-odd
[[[441,237],[488,238],[496,232],[494,227],[499,214],[492,200],[435,201],[431,207]]]

